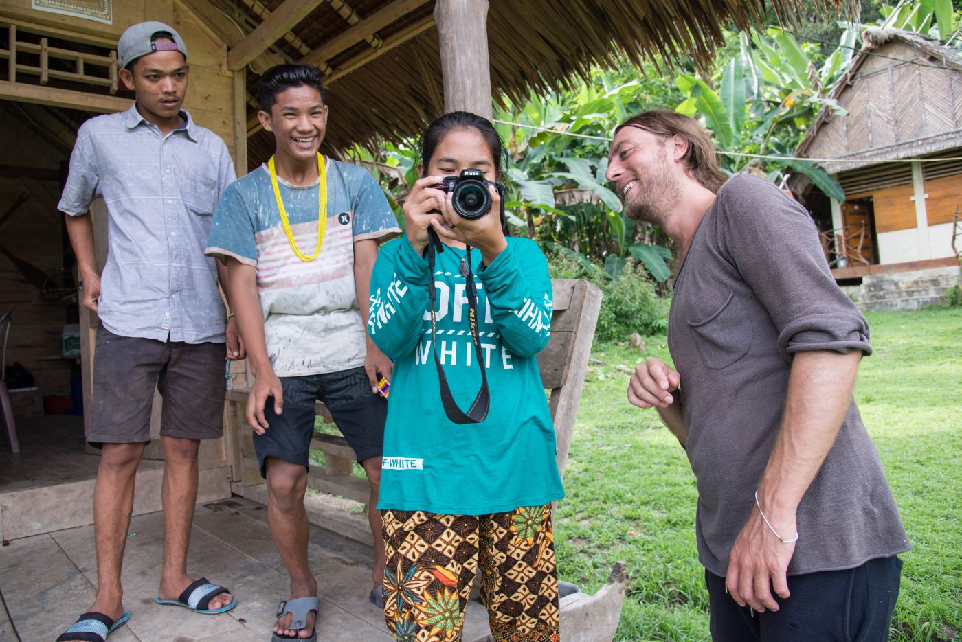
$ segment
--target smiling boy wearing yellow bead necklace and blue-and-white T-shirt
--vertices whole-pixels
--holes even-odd
[[[317,582],[307,559],[304,493],[316,399],[367,473],[378,588],[372,601],[384,576],[373,506],[387,403],[377,382],[390,378],[391,360],[367,338],[367,305],[378,244],[400,229],[367,170],[318,154],[328,110],[316,67],[271,67],[258,98],[274,156],[224,192],[207,254],[227,264],[255,378],[247,421],[267,481],[267,520],[291,577],[291,599],[281,604],[273,639],[313,640]]]

